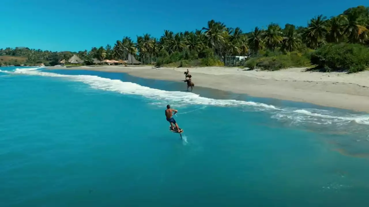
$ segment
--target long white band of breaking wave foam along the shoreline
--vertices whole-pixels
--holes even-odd
[[[112,80],[99,76],[89,75],[63,75],[48,73],[37,70],[39,68],[15,69],[15,71],[2,71],[6,73],[27,74],[37,76],[61,77],[73,81],[80,81],[89,84],[90,87],[118,92],[121,94],[140,95],[146,98],[158,101],[174,102],[181,105],[212,105],[212,106],[251,106],[258,110],[267,110],[273,113],[272,117],[276,119],[288,119],[292,122],[315,123],[315,124],[348,124],[356,122],[369,125],[369,115],[342,114],[320,109],[296,109],[296,108],[277,108],[265,103],[252,101],[237,101],[230,99],[212,99],[200,97],[198,94],[180,91],[163,91],[155,88],[145,87],[136,83],[123,82],[121,80]],[[339,115],[338,115],[339,114]]]

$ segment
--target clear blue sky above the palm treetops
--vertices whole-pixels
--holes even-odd
[[[228,2],[228,3],[227,3]],[[193,31],[207,21],[224,22],[249,32],[270,22],[306,26],[316,15],[327,17],[368,0],[4,0],[1,2],[0,48],[24,46],[52,51],[89,50],[114,45],[124,36],[136,41],[165,29]]]

